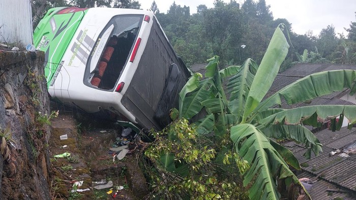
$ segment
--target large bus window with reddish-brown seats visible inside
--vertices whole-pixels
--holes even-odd
[[[84,84],[107,90],[115,87],[142,20],[143,15],[118,15],[109,21],[88,58]]]

